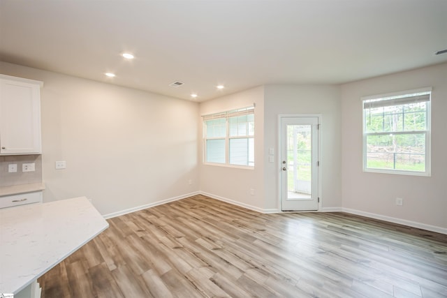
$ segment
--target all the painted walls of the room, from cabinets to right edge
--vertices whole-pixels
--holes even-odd
[[[421,228],[447,228],[447,64],[342,86],[267,85],[200,105],[3,62],[0,73],[45,83],[45,201],[85,195],[101,214],[112,214],[202,191],[259,211],[279,210],[278,114],[321,114],[321,210],[343,207]],[[429,86],[432,176],[362,172],[360,97]],[[198,115],[252,103],[254,170],[203,165]],[[269,148],[275,163],[268,162]],[[67,169],[54,170],[61,160]],[[396,197],[404,199],[402,207]]]

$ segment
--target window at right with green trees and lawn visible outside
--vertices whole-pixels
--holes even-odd
[[[431,89],[362,98],[363,170],[430,176]]]

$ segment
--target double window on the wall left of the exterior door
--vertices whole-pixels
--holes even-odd
[[[254,166],[254,107],[203,116],[204,161]]]

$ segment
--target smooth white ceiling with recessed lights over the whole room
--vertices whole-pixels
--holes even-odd
[[[187,100],[351,82],[444,49],[446,0],[0,0],[1,61]]]

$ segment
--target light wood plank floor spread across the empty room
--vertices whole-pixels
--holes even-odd
[[[39,278],[52,297],[447,297],[447,235],[196,195],[108,220]]]

